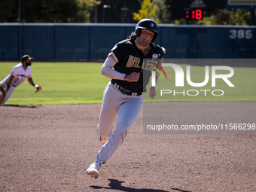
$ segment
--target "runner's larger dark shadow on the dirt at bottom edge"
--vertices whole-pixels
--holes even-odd
[[[124,181],[118,181],[117,179],[108,179],[110,183],[108,184],[109,187],[99,187],[99,186],[90,186],[93,189],[109,189],[109,190],[120,190],[120,191],[126,191],[126,192],[139,192],[139,191],[147,191],[147,192],[168,192],[167,190],[157,190],[157,189],[136,189],[133,187],[124,187],[121,186]],[[181,190],[183,191],[183,190]],[[184,190],[185,191],[185,190]]]

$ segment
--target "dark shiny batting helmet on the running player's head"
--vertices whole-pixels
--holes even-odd
[[[137,23],[135,32],[134,32],[136,37],[139,37],[139,35],[142,34],[141,29],[149,29],[149,30],[153,31],[154,37],[153,37],[151,43],[153,43],[156,40],[157,35],[158,35],[158,32],[157,32],[158,27],[157,27],[157,23],[155,23],[154,20],[150,20],[150,19],[140,20],[139,23]]]

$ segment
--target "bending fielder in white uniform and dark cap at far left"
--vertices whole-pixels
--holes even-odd
[[[7,102],[11,94],[14,93],[15,88],[22,84],[26,78],[28,78],[29,84],[35,87],[35,93],[41,90],[41,86],[34,84],[32,80],[32,69],[29,67],[32,59],[29,55],[22,56],[21,63],[14,66],[11,74],[0,82],[0,106]]]

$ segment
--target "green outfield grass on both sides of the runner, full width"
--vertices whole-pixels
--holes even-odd
[[[0,80],[4,79],[17,62],[0,62]],[[180,65],[186,72],[187,65]],[[102,102],[102,94],[109,79],[100,75],[102,62],[33,62],[32,78],[40,84],[41,92],[35,93],[28,81],[14,91],[6,105],[59,105],[84,104]],[[190,87],[184,78],[184,87],[175,87],[175,73],[172,68],[164,68],[168,76],[157,81],[157,96],[154,100],[145,93],[145,102],[222,102],[222,101],[256,101],[256,68],[233,67],[235,74],[230,81],[235,87],[229,87],[221,79],[217,79],[216,87],[212,87],[210,70],[209,83],[205,87]],[[191,81],[200,83],[204,80],[204,66],[190,66]],[[221,72],[221,71],[220,71]],[[220,73],[218,72],[218,73]],[[186,77],[186,75],[184,75]],[[183,94],[160,96],[160,90],[175,90]],[[211,90],[198,96],[187,96],[187,90]],[[212,90],[223,90],[223,96],[212,96]],[[195,92],[190,92],[195,94]],[[216,92],[216,94],[219,94]]]

